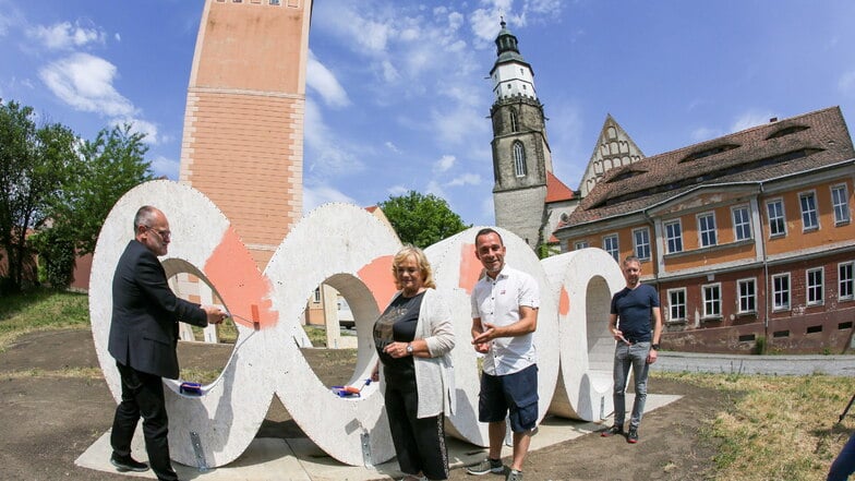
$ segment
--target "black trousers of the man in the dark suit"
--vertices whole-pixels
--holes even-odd
[[[131,440],[140,417],[143,418],[143,436],[148,464],[158,480],[174,481],[169,458],[169,418],[166,413],[164,382],[160,376],[140,372],[116,363],[122,380],[122,401],[116,408],[110,445],[117,456],[131,455]]]

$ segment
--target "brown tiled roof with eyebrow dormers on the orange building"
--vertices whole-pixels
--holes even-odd
[[[840,107],[817,110],[610,170],[564,228],[636,213],[703,185],[768,181],[853,158]]]

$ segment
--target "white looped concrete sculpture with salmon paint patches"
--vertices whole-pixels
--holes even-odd
[[[239,330],[228,363],[214,383],[203,386],[201,396],[182,395],[178,382],[166,383],[173,459],[207,467],[231,462],[257,433],[274,394],[303,432],[339,461],[359,466],[390,459],[394,448],[376,384],[358,398],[338,397],[323,385],[300,351],[308,346],[300,318],[318,284],[344,294],[359,336],[349,384],[361,385],[376,362],[373,322],[394,292],[390,268],[400,248],[397,237],[362,208],[324,205],[291,229],[262,274],[229,220],[201,192],[162,180],[131,190],[105,221],[89,290],[95,347],[117,401],[119,374],[107,352],[112,275],[132,236],[133,215],[145,204],[162,209],[170,219],[173,243],[161,260],[167,274],[185,272],[205,281],[236,314]],[[467,344],[469,294],[481,274],[473,254],[477,230],[470,228],[425,252],[438,290],[453,308],[460,339],[453,351],[458,410],[448,418],[448,432],[484,446],[486,426],[477,421],[478,359]],[[498,230],[508,246],[508,264],[532,274],[541,287],[535,336],[539,419],[547,413],[588,421],[604,417],[612,410],[609,299],[623,286],[617,263],[597,249],[539,261],[522,239]]]

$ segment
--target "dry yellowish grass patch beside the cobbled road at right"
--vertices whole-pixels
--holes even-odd
[[[721,443],[714,458],[716,480],[824,479],[855,429],[855,411],[838,424],[855,393],[853,377],[655,375],[734,395],[733,411],[719,412],[703,430]]]

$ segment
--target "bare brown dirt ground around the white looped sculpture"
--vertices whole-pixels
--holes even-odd
[[[182,366],[222,366],[229,353],[227,346],[179,346]],[[353,359],[347,351],[313,349],[306,351],[306,357],[324,383],[341,383],[352,372]],[[74,466],[74,459],[110,428],[116,404],[103,378],[49,374],[73,368],[100,369],[88,330],[27,335],[0,353],[0,479],[129,479]],[[24,372],[31,374],[23,375]],[[595,433],[556,444],[529,454],[526,479],[712,479],[707,472],[716,447],[700,436],[699,430],[716,412],[728,409],[733,400],[715,390],[657,377],[651,378],[649,392],[683,397],[645,417],[638,444],[627,444],[623,437],[603,438]],[[275,399],[258,436],[300,435],[300,429]],[[507,464],[509,448],[503,454]],[[463,469],[454,469],[450,479],[503,478],[471,477]]]

